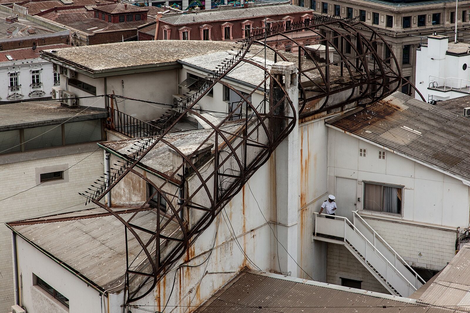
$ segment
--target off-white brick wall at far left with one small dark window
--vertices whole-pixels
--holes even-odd
[[[0,273],[2,275],[0,280],[0,312],[10,312],[8,311],[9,307],[13,305],[14,301],[11,231],[4,225],[4,222],[85,208],[84,205],[80,205],[84,202],[84,198],[78,192],[85,191],[94,179],[103,173],[103,152],[99,149],[93,153],[97,146],[94,145],[91,150],[89,145],[93,144],[76,145],[75,153],[62,156],[57,156],[59,151],[70,147],[0,156],[0,160],[3,161],[6,158],[16,158],[16,162],[0,165],[0,173],[2,173],[0,199],[12,196],[1,201],[0,206],[0,215],[2,216],[0,224],[0,251],[2,252],[0,253]],[[80,147],[82,152],[80,152]],[[88,148],[85,149],[85,147]],[[36,155],[36,159],[19,161],[20,154],[31,153]],[[42,158],[40,158],[41,155]],[[88,156],[86,160],[79,162],[86,156]],[[79,162],[77,165],[64,173],[63,180],[50,181],[34,187],[39,183],[38,173],[64,170],[77,162]],[[20,191],[24,192],[15,196]]]

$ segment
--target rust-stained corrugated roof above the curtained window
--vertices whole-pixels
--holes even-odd
[[[401,92],[328,122],[470,183],[470,120]]]

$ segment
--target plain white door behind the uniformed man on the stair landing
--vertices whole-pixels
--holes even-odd
[[[352,211],[356,211],[357,179],[336,177],[336,215],[345,216],[352,222]]]

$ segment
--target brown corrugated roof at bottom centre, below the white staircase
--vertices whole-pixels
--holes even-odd
[[[275,276],[275,277],[273,277]],[[322,287],[322,286],[328,287]],[[346,291],[351,290],[351,291]],[[196,313],[441,313],[393,297],[331,284],[299,282],[282,275],[243,271],[201,305]],[[400,300],[403,301],[400,301]],[[382,307],[386,306],[386,307]]]

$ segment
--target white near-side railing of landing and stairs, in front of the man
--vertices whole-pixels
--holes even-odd
[[[392,293],[402,297],[408,297],[417,290],[415,285],[411,283],[400,271],[388,260],[382,252],[380,252],[360,230],[354,226],[344,216],[335,216],[334,219],[325,218],[325,214],[314,212],[314,236],[317,234],[329,235],[333,237],[343,238],[346,248],[350,245],[360,254],[363,259],[358,258],[366,267],[369,267],[372,275],[376,276],[373,269],[382,276],[377,279],[384,282],[384,287]],[[323,215],[323,216],[321,216]],[[319,222],[319,220],[321,220]],[[356,253],[356,255],[358,255]],[[359,256],[359,255],[358,255]],[[370,266],[369,266],[370,264]],[[373,269],[371,268],[373,267]],[[377,277],[377,276],[376,276]],[[393,287],[390,288],[390,286]],[[395,291],[396,290],[396,291]]]

